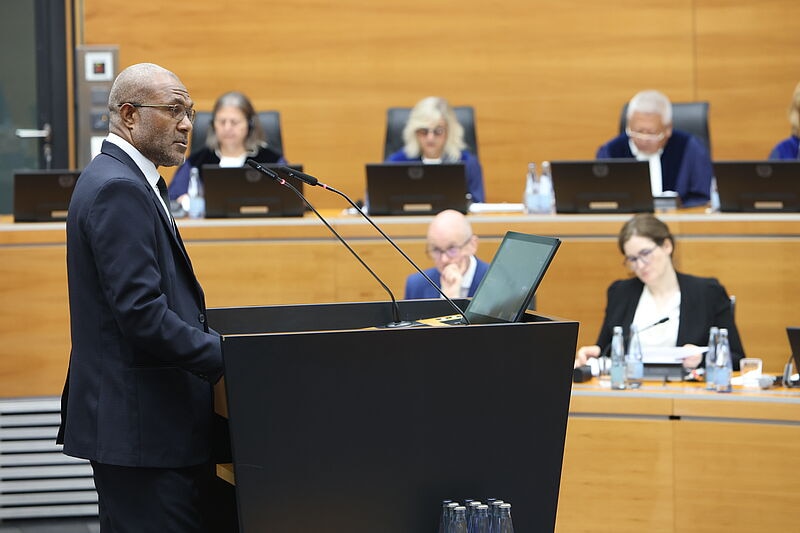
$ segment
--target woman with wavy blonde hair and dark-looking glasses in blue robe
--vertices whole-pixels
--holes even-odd
[[[464,128],[447,100],[429,96],[417,102],[403,129],[403,141],[403,149],[389,155],[386,161],[422,161],[428,164],[463,162],[471,201],[486,201],[481,165],[478,158],[465,149]]]

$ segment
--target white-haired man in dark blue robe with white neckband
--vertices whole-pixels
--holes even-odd
[[[699,139],[672,129],[672,103],[659,91],[631,99],[625,133],[601,146],[597,158],[649,161],[653,196],[676,192],[684,207],[706,204],[711,197],[711,156]]]

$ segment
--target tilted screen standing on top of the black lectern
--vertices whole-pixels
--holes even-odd
[[[555,237],[506,232],[475,295],[464,310],[470,324],[522,322],[561,246]],[[429,326],[463,324],[460,315],[419,320]]]

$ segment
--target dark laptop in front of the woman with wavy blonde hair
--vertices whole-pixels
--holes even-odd
[[[445,209],[467,212],[463,163],[368,163],[370,215],[435,215]]]

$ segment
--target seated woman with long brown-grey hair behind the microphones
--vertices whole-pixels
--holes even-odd
[[[171,200],[183,203],[193,168],[200,169],[203,165],[241,167],[248,157],[259,163],[286,163],[283,154],[267,144],[253,104],[247,96],[236,91],[227,92],[217,99],[206,145],[194,148],[169,184]]]

